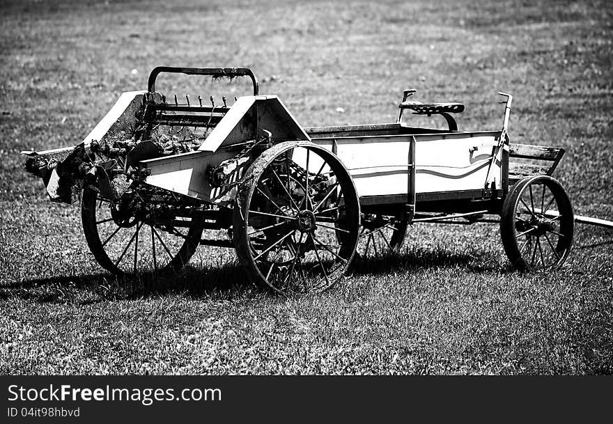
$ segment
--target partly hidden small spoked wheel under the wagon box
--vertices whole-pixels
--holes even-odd
[[[406,221],[380,214],[367,215],[362,218],[356,258],[377,260],[398,253],[406,233]]]

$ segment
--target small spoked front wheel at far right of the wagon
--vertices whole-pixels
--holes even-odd
[[[500,233],[513,267],[560,267],[573,244],[574,215],[564,187],[547,175],[515,184],[502,207]]]

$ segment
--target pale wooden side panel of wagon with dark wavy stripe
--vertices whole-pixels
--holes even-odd
[[[322,137],[313,142],[341,158],[362,203],[413,203],[413,194],[482,190],[486,182],[502,187],[499,136],[496,131],[453,132]]]

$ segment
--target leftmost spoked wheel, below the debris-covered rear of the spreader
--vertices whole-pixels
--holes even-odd
[[[134,217],[119,219],[115,206],[93,189],[83,191],[81,217],[91,253],[117,275],[178,272],[196,251],[203,231],[173,227],[171,233]]]

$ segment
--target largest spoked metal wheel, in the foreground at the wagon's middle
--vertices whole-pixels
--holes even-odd
[[[355,186],[324,148],[307,141],[279,143],[245,174],[233,227],[238,258],[254,283],[284,294],[325,290],[346,272],[355,253]]]

